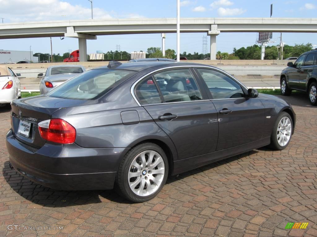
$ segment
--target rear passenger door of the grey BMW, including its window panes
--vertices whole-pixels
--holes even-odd
[[[136,85],[135,94],[175,144],[178,159],[216,150],[217,111],[190,68],[155,72]]]

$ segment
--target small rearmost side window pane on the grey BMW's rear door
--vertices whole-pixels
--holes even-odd
[[[135,94],[142,105],[162,103],[159,91],[152,76],[141,81],[135,88]]]

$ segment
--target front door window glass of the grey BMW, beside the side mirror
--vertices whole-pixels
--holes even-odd
[[[244,97],[241,86],[229,76],[209,69],[197,69],[206,82],[213,99],[229,99]]]

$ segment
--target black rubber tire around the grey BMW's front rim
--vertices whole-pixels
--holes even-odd
[[[288,132],[289,133],[288,142],[286,144],[280,144],[279,141],[278,141],[278,129],[279,129],[280,121],[283,118],[285,118],[285,117],[287,117],[289,119],[289,121],[290,121],[291,131]],[[277,119],[275,121],[275,125],[273,127],[273,131],[272,131],[272,134],[271,134],[271,143],[270,143],[269,146],[272,149],[274,149],[274,150],[283,150],[283,149],[285,149],[288,146],[288,143],[290,142],[290,140],[292,138],[292,133],[293,133],[293,120],[292,120],[291,116],[287,112],[281,112],[281,114],[277,117]],[[285,134],[286,134],[286,132],[285,132]],[[279,139],[281,139],[281,136],[280,136]]]

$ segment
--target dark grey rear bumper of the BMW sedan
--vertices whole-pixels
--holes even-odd
[[[6,145],[12,166],[24,177],[60,190],[112,189],[121,158],[129,148],[82,148],[49,144],[34,149],[18,141],[11,130]]]

